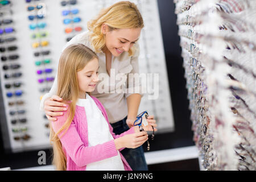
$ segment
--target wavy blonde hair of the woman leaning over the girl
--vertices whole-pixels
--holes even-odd
[[[143,18],[137,6],[129,1],[117,2],[106,9],[102,9],[95,19],[87,23],[90,31],[90,41],[96,52],[100,52],[105,46],[105,35],[101,32],[101,26],[105,23],[109,30],[119,28],[143,28]],[[133,46],[134,47],[134,46]],[[129,49],[129,56],[133,55],[133,47]]]

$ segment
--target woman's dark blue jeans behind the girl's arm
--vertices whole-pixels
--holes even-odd
[[[113,132],[116,135],[119,135],[130,129],[126,124],[126,119],[127,117],[121,121],[111,124],[113,127]],[[121,151],[121,154],[125,157],[127,163],[130,165],[133,171],[148,171],[142,146],[138,148],[125,148]]]

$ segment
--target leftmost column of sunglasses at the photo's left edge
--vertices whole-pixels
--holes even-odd
[[[26,104],[22,97],[24,85],[19,46],[16,44],[18,30],[13,20],[13,8],[10,1],[0,1],[0,52],[1,52],[1,90],[4,90],[5,112],[1,111],[1,120],[6,117],[13,127],[13,140],[28,140]],[[1,104],[3,105],[3,104]],[[6,133],[6,132],[4,132]],[[9,141],[9,139],[7,139]]]

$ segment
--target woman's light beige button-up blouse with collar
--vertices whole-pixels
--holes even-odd
[[[70,46],[71,44],[77,44],[77,43],[84,44],[85,46],[92,49],[92,51],[95,51],[95,49],[93,48],[93,46],[91,45],[90,40],[89,40],[89,31],[82,32],[81,34],[78,34],[75,37],[73,37],[64,46],[63,50],[66,47]],[[114,78],[118,73],[121,73],[125,76],[127,76],[128,73],[139,73],[139,64],[138,64],[139,44],[135,43],[134,47],[135,47],[135,51],[134,51],[133,56],[129,56],[128,52],[122,52],[121,55],[118,57],[113,56],[111,68],[115,72],[115,74],[113,74]],[[108,75],[108,72],[106,71],[105,53],[101,51],[101,52],[96,53],[96,55],[99,58],[99,64],[100,64],[100,69],[98,71],[99,76],[101,73],[104,73],[106,75],[106,77],[109,78],[109,82],[111,84],[112,81],[110,81],[110,80],[112,77],[110,77]],[[104,79],[105,78],[103,78],[103,80]],[[98,98],[98,100],[100,100],[102,105],[104,105],[106,112],[108,114],[110,123],[115,123],[117,121],[120,121],[121,119],[123,119],[127,116],[128,111],[127,111],[126,98],[129,97],[133,93],[138,93],[138,92],[136,92],[136,89],[135,89],[136,86],[139,87],[139,90],[140,90],[139,93],[142,95],[141,84],[138,83],[137,81],[133,81],[133,79],[129,80],[128,76],[122,85],[120,85],[120,79],[114,80],[114,84],[115,84],[114,86],[108,84],[108,86],[106,87],[107,90],[109,91],[108,93],[101,93],[101,91],[98,90],[99,84],[104,85],[103,87],[100,87],[101,86],[100,85],[99,88],[104,88],[106,86],[105,84],[102,84],[101,81],[99,81],[96,85],[96,89],[94,90],[94,92],[91,93],[91,95]],[[122,88],[123,85],[125,85],[126,88],[134,90],[134,92],[129,92],[129,93],[118,92],[118,89]],[[110,92],[112,92],[112,93],[110,93]],[[56,93],[57,93],[57,76],[55,77],[55,80],[53,82],[52,88],[49,91],[49,93],[46,93],[44,95],[44,97],[42,98],[41,103],[40,103],[40,110],[43,110],[44,101],[46,100],[46,98],[56,95]]]

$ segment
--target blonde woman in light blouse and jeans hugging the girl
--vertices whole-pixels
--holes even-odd
[[[139,73],[138,56],[139,46],[137,40],[143,28],[141,13],[134,3],[123,1],[101,10],[95,19],[88,22],[89,31],[82,32],[71,39],[67,45],[81,43],[96,52],[100,65],[99,73],[107,77],[113,76],[110,71],[128,75]],[[64,47],[64,48],[65,48]],[[127,88],[134,86],[133,79],[125,80]],[[119,81],[115,80],[117,85]],[[115,88],[104,85],[109,92],[101,92],[100,84],[91,93],[104,105],[108,113],[109,122],[115,134],[121,134],[133,126],[138,114],[142,95],[140,93],[119,93]],[[56,116],[63,115],[67,108],[64,106],[64,98],[57,94],[57,79],[49,93],[44,95],[41,101],[41,109],[44,109],[50,121],[56,121]],[[147,119],[150,125],[156,127],[153,115]],[[156,130],[155,130],[156,131]],[[146,160],[142,146],[134,149],[126,148],[121,152],[133,170],[147,170]]]

